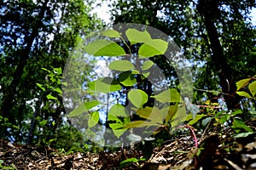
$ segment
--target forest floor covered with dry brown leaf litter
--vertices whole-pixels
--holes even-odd
[[[237,139],[231,135],[227,129],[198,137],[197,152],[192,137],[176,137],[154,148],[147,161],[134,161],[123,168],[119,167],[121,161],[132,157],[139,160],[143,157],[142,151],[123,149],[65,155],[49,147],[0,140],[0,169],[256,169],[256,134]]]

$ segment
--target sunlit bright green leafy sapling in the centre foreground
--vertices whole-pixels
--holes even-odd
[[[149,58],[165,54],[168,42],[151,38],[146,30],[127,29],[125,34],[128,37],[128,42],[119,31],[111,29],[102,31],[104,39],[90,42],[85,46],[85,52],[93,56],[123,57],[113,60],[108,65],[110,70],[118,73],[116,77],[100,77],[96,81],[88,83],[90,93],[119,93],[131,103],[131,111],[127,111],[125,106],[119,104],[119,99],[116,99],[117,103],[112,105],[108,111],[108,121],[111,121],[109,127],[112,128],[115,136],[119,138],[126,130],[136,127],[159,128],[170,125],[177,127],[180,122],[185,121],[186,107],[190,108],[195,116],[199,110],[191,109],[194,105],[185,103],[175,88],[166,89],[158,94],[148,94],[145,90],[138,88],[140,84],[148,81],[149,70],[155,65]],[[119,38],[124,46],[120,46],[111,38]],[[138,55],[131,53],[132,45],[137,46]],[[126,59],[127,56],[130,57],[130,60]],[[160,105],[166,106],[163,108],[148,106],[146,104],[149,99],[155,99]],[[102,108],[104,105],[106,104],[100,101],[86,101],[71,111],[68,117],[79,116],[85,111],[90,111],[88,125],[94,127],[100,120],[100,109],[96,108]],[[131,112],[136,114],[139,120],[132,120]]]

